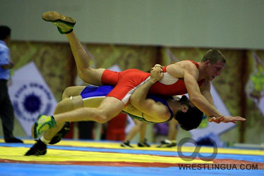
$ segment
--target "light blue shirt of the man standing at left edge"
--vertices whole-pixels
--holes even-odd
[[[0,65],[9,64],[10,51],[5,42],[0,40]],[[0,79],[8,80],[10,77],[10,69],[4,69],[0,67]]]

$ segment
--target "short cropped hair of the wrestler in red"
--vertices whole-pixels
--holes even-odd
[[[225,56],[222,54],[221,51],[219,51],[218,49],[210,49],[208,50],[205,55],[202,58],[202,62],[205,62],[207,60],[210,60],[210,62],[212,64],[217,63],[219,60],[221,60],[221,62],[226,63],[226,58]]]

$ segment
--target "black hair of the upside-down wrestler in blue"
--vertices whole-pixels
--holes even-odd
[[[185,131],[190,131],[199,127],[202,122],[204,113],[196,107],[189,106],[187,112],[178,111],[175,119],[180,124],[180,127]]]

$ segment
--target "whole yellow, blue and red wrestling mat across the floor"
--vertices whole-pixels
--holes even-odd
[[[35,143],[7,144],[0,139],[0,176],[264,176],[264,150],[218,148],[123,148],[110,141],[63,140],[44,156],[23,156]],[[133,146],[136,146],[133,144]],[[184,157],[183,157],[184,156]],[[199,157],[200,156],[200,157]]]

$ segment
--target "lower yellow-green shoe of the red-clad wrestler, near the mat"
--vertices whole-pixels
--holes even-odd
[[[56,127],[56,121],[53,116],[39,115],[31,129],[32,137],[36,139],[40,134],[53,127]]]

